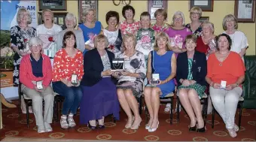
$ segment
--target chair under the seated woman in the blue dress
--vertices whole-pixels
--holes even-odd
[[[160,104],[167,104],[171,103],[171,113],[169,115],[170,121],[169,124],[172,125],[172,118],[173,118],[173,113],[172,113],[172,108],[173,108],[173,96],[174,93],[170,92],[167,94],[165,97],[160,98]],[[146,122],[148,122],[148,108],[147,105],[145,106],[145,113],[146,113]]]

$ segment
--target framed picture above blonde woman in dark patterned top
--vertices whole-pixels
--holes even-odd
[[[202,11],[213,11],[213,0],[190,0],[190,9],[193,7],[199,7]]]

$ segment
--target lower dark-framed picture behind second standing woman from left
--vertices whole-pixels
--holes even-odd
[[[41,25],[44,23],[43,17],[41,15],[41,12],[38,12],[38,25]],[[53,22],[59,26],[61,26],[62,30],[66,29],[66,18],[67,12],[53,12]]]

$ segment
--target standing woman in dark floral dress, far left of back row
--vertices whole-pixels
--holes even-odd
[[[35,37],[36,30],[29,27],[31,23],[30,12],[24,8],[20,8],[17,13],[17,26],[11,27],[11,47],[15,51],[14,54],[14,86],[19,85],[20,78],[20,62],[23,56],[30,53],[27,46],[29,39]],[[23,95],[21,96],[21,110],[26,113],[26,106]],[[29,113],[33,113],[32,107],[29,106]]]

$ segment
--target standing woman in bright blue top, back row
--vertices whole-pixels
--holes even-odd
[[[92,50],[94,48],[94,38],[97,35],[102,34],[102,23],[95,20],[95,11],[94,9],[87,9],[82,14],[82,21],[83,23],[78,25],[78,29],[83,32],[84,35],[84,42],[85,42],[85,50]]]

